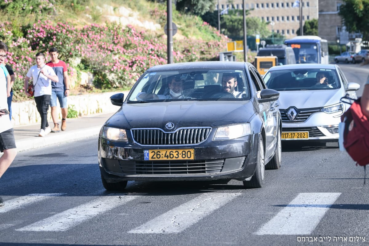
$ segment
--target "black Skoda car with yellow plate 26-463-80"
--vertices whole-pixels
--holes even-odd
[[[237,78],[233,93],[225,91],[232,86],[222,86],[228,75],[230,81]],[[278,96],[251,63],[149,68],[126,98],[123,93],[111,96],[120,109],[99,134],[104,188],[124,189],[129,180],[231,179],[247,188],[262,187],[265,168],[281,165]]]

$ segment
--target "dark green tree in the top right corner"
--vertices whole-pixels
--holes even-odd
[[[364,40],[369,39],[369,0],[343,0],[339,15],[349,33],[361,32]]]

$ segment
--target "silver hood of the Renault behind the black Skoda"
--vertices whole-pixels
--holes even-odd
[[[280,91],[279,108],[288,109],[294,106],[298,109],[324,107],[338,103],[344,93],[336,90],[293,90]]]

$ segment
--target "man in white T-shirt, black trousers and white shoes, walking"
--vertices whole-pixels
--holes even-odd
[[[32,78],[34,85],[34,97],[37,111],[41,116],[41,129],[38,134],[39,137],[44,137],[51,132],[51,128],[47,121],[47,112],[50,105],[51,98],[51,81],[58,82],[54,70],[45,64],[45,55],[43,53],[36,54],[36,65],[28,70],[24,79],[24,88],[28,88],[28,82]],[[31,96],[27,90],[24,90],[27,96]]]

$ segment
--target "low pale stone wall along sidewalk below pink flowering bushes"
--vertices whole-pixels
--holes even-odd
[[[110,102],[110,96],[119,92],[106,92],[99,94],[85,94],[77,96],[68,96],[68,105],[74,105],[74,109],[79,116],[91,115],[94,113],[110,113],[116,112],[119,107],[114,106]],[[123,92],[128,95],[128,91]],[[12,102],[12,123],[13,126],[20,126],[31,123],[41,123],[41,118],[37,112],[36,103],[34,100],[24,102]],[[51,119],[51,109],[49,108],[48,120]],[[58,102],[59,122],[61,121],[61,110]]]

